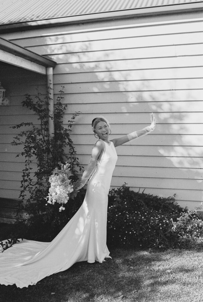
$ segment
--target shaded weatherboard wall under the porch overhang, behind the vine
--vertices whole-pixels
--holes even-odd
[[[26,93],[34,100],[37,90],[42,93],[40,96],[42,99],[45,97],[46,76],[9,64],[0,64],[0,67],[2,85],[10,100],[9,106],[0,106],[0,198],[18,199],[25,159],[22,156],[16,157],[23,147],[11,146],[11,142],[26,128],[12,129],[11,127],[22,122],[39,124],[33,112],[22,107],[21,102],[25,100]],[[0,213],[1,222],[14,221],[12,219],[14,210],[9,208],[1,210],[3,211]]]

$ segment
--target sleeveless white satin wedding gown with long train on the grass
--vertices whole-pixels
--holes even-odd
[[[108,192],[117,154],[113,142],[104,143],[102,158],[97,160],[78,212],[51,242],[24,239],[0,253],[0,284],[28,287],[76,262],[103,262],[109,257]]]

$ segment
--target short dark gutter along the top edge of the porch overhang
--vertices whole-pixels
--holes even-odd
[[[3,38],[0,38],[0,50],[21,57],[23,59],[27,59],[31,62],[34,62],[44,67],[54,68],[56,66],[56,62],[54,62],[52,59],[38,55],[37,53],[27,50],[24,47],[21,47]]]

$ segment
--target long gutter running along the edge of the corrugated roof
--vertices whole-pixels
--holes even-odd
[[[88,22],[101,22],[109,20],[118,20],[124,18],[141,18],[148,16],[181,14],[191,12],[203,12],[203,1],[196,3],[185,3],[176,5],[156,6],[147,8],[136,8],[121,11],[110,11],[93,14],[81,14],[70,17],[50,18],[46,20],[37,20],[29,22],[19,22],[0,25],[0,34],[32,30],[34,28],[56,27],[71,24],[81,24]],[[203,14],[202,14],[203,17]]]

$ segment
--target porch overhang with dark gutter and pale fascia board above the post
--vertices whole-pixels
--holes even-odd
[[[54,68],[56,62],[25,49],[15,43],[0,38],[0,62],[47,74],[47,68]]]

